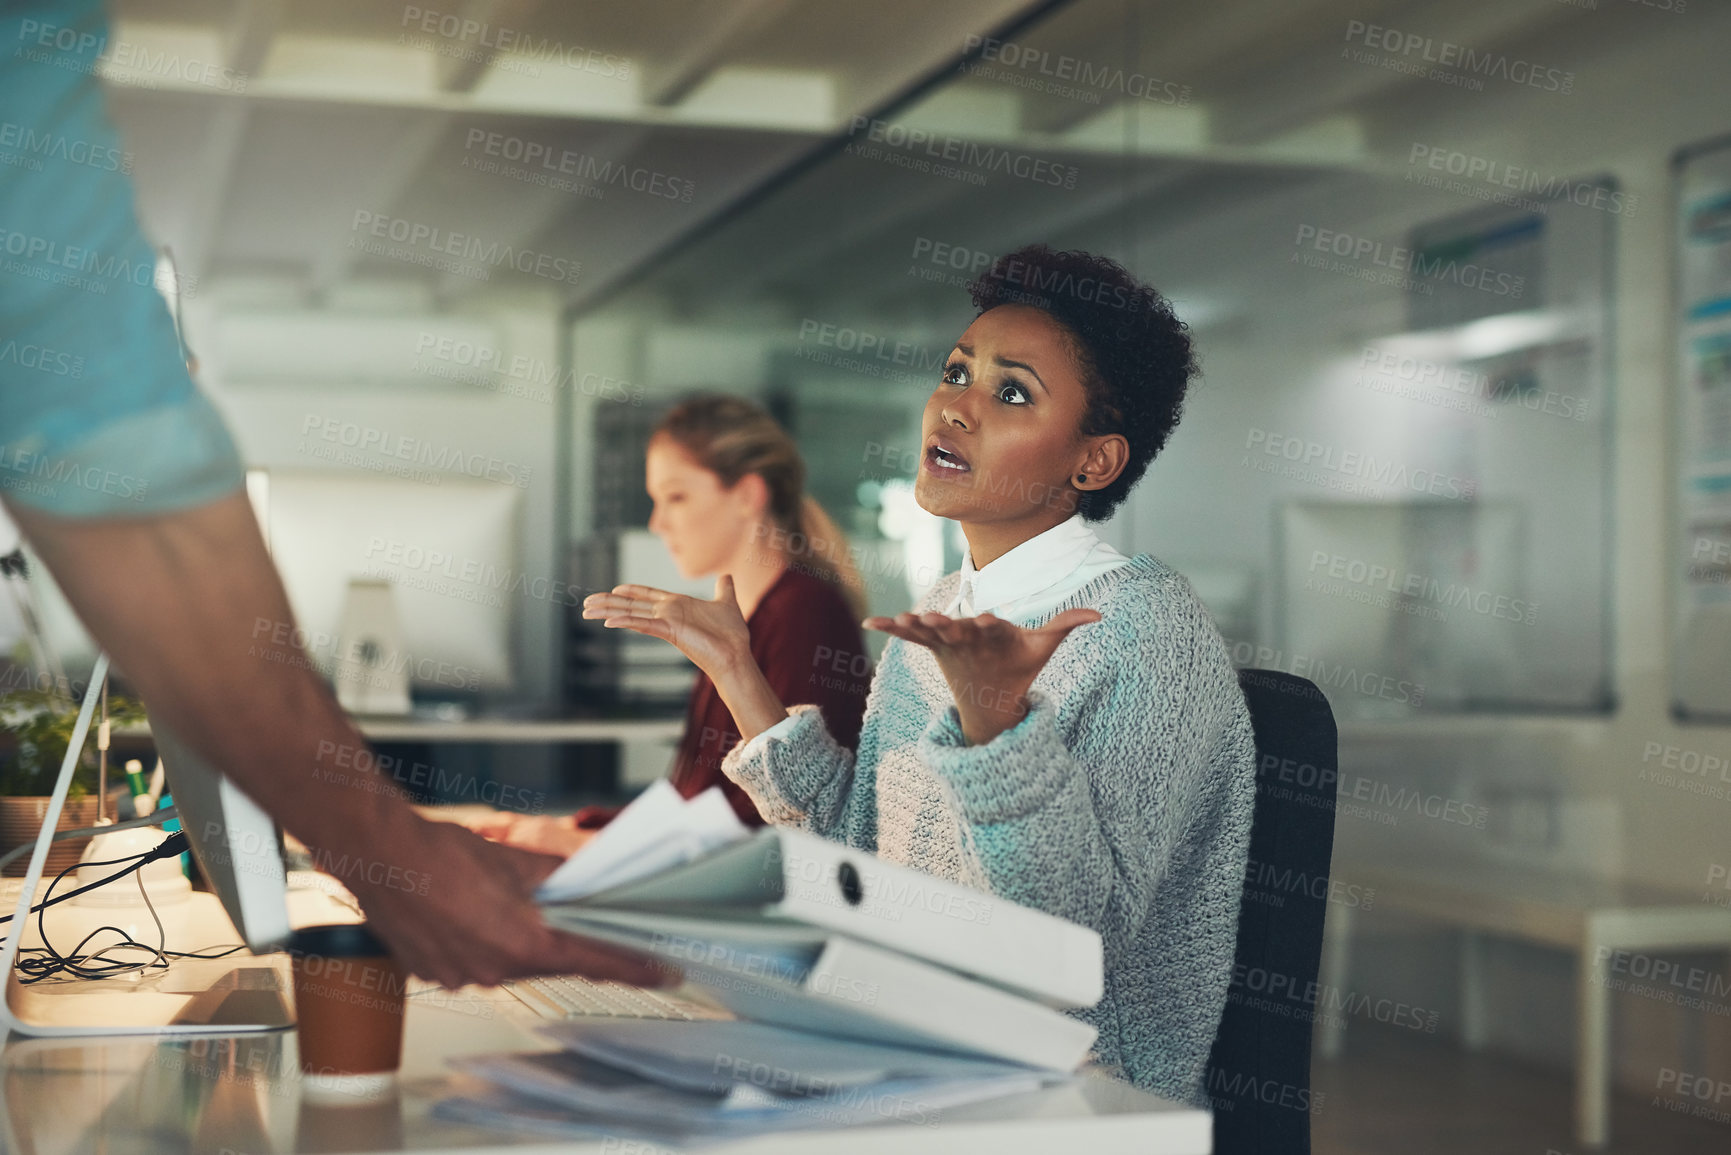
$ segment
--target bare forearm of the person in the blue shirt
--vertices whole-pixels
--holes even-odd
[[[355,772],[364,739],[293,641],[244,494],[137,519],[10,513],[151,713],[284,828],[315,849],[370,831],[379,850],[412,828]]]

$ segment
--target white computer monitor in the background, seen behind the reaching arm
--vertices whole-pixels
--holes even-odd
[[[341,677],[350,661],[357,599],[376,606],[386,585],[400,646],[374,655],[383,672],[438,698],[514,686],[521,490],[254,469],[248,494],[303,646],[325,675]]]

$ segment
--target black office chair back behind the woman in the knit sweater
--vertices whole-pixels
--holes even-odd
[[[1335,850],[1335,712],[1316,684],[1239,670],[1257,734],[1257,805],[1232,990],[1208,1055],[1215,1155],[1309,1155],[1310,1023]]]

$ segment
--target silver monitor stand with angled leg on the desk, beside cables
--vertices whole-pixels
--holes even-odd
[[[73,771],[83,753],[85,739],[90,736],[90,719],[95,713],[102,684],[107,681],[107,655],[97,655],[90,687],[78,710],[78,724],[71,741],[66,743],[61,776],[54,783],[54,795],[48,800],[47,814],[43,814],[42,829],[36,831],[36,849],[29,855],[29,869],[24,871],[17,907],[10,923],[0,923],[0,930],[7,932],[5,947],[0,949],[0,975],[5,977],[5,997],[0,999],[0,1030],[38,1037],[100,1037],[137,1034],[227,1036],[293,1027],[294,1015],[287,999],[287,958],[282,954],[180,959],[171,963],[166,971],[152,971],[138,980],[48,978],[28,987],[17,980],[17,952],[24,940],[24,928],[26,923],[33,925],[36,918],[29,914],[29,907],[35,904],[36,887],[42,883],[48,861],[48,843],[61,821],[66,793],[73,784]],[[130,880],[123,881],[130,883]],[[192,902],[197,907],[192,911],[197,923],[222,926],[223,930],[216,933],[232,933],[216,895],[194,894]],[[74,904],[68,902],[66,906]],[[61,907],[50,907],[50,928],[54,909]],[[106,921],[114,921],[113,907],[106,911]],[[178,925],[182,919],[173,921]],[[168,945],[187,949],[187,944],[177,945],[173,940]],[[71,947],[71,942],[66,947]]]

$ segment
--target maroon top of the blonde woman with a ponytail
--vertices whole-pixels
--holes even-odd
[[[788,566],[746,620],[751,656],[786,705],[815,705],[838,743],[853,750],[866,717],[871,658],[859,618],[833,582]],[[673,788],[694,798],[720,786],[748,826],[763,826],[751,798],[722,774],[722,758],[739,743],[734,715],[708,674],[698,674],[685,705],[685,734],[670,774]],[[609,821],[616,807],[583,807],[578,826]]]

